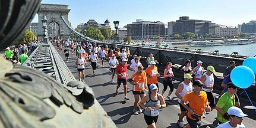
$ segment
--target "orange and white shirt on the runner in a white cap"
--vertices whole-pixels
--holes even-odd
[[[145,70],[147,75],[153,75],[153,77],[147,77],[147,84],[155,84],[157,83],[157,67],[154,66],[154,68],[152,67],[147,67],[147,69]]]

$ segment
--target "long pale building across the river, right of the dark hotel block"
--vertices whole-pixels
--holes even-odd
[[[238,35],[238,28],[233,26],[216,25],[215,34],[220,36],[236,36]]]

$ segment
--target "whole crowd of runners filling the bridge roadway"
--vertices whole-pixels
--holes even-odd
[[[242,124],[243,117],[247,116],[239,109],[239,98],[236,95],[238,87],[230,80],[230,73],[235,67],[235,61],[230,61],[229,66],[223,73],[222,87],[219,101],[215,101],[213,96],[215,69],[212,65],[203,67],[203,62],[198,60],[196,67],[191,67],[191,61],[187,60],[182,70],[184,77],[175,92],[173,88],[172,63],[166,63],[163,71],[163,90],[159,90],[158,78],[160,73],[157,69],[157,61],[153,54],[149,54],[146,60],[148,64],[144,67],[140,62],[140,57],[132,55],[128,47],[118,48],[116,45],[109,48],[96,43],[89,42],[70,42],[57,41],[57,48],[62,54],[64,52],[66,62],[69,60],[69,54],[76,54],[79,80],[84,81],[85,66],[92,68],[93,77],[96,76],[96,65],[99,61],[102,67],[109,64],[109,73],[112,74],[110,83],[116,84],[116,95],[119,94],[119,88],[124,87],[124,100],[129,100],[127,96],[127,84],[132,85],[132,94],[134,96],[133,113],[138,115],[143,113],[144,120],[148,127],[156,127],[160,109],[166,107],[166,100],[172,101],[171,94],[175,93],[178,97],[181,113],[178,113],[179,127],[199,127],[201,119],[213,109],[217,110],[218,127],[245,127]],[[62,51],[62,47],[64,51]],[[88,64],[89,63],[89,64]],[[128,65],[129,63],[129,65]],[[132,75],[128,76],[127,70],[132,71]],[[99,74],[99,73],[98,73]],[[115,82],[116,76],[116,82]],[[165,97],[165,91],[169,90]],[[160,93],[160,94],[159,94]],[[184,119],[187,124],[184,124]]]

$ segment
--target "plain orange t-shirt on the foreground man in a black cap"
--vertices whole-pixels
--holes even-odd
[[[194,112],[196,114],[202,115],[204,113],[204,108],[206,107],[206,102],[208,101],[205,91],[201,91],[201,94],[198,96],[194,93],[194,91],[192,91],[191,93],[186,94],[182,99],[185,103],[189,101],[189,108],[195,110]],[[189,112],[188,117],[192,120],[196,120]],[[200,119],[200,117],[198,119]]]

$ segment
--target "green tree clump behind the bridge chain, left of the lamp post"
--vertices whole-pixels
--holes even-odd
[[[100,29],[91,26],[86,28],[86,36],[94,40],[105,41],[105,37],[102,35],[102,32],[100,32]]]

